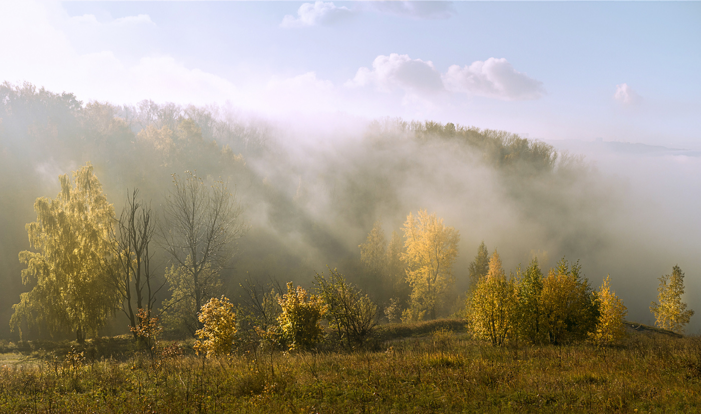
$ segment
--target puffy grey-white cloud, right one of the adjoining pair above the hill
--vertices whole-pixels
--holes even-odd
[[[538,99],[545,90],[543,83],[514,69],[506,59],[490,57],[470,66],[454,64],[443,76],[448,90],[503,99],[507,101]]]

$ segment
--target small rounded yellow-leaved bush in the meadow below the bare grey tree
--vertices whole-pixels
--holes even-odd
[[[202,306],[199,316],[202,329],[196,332],[199,340],[194,346],[198,354],[207,357],[230,354],[236,338],[236,312],[229,299],[211,298]]]

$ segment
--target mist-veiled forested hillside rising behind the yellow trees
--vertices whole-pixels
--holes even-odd
[[[585,260],[606,244],[601,229],[615,193],[580,159],[550,145],[431,121],[385,118],[358,133],[297,126],[217,106],[119,106],[28,83],[1,85],[0,336],[17,336],[7,322],[29,290],[18,254],[29,249],[25,224],[36,220],[34,200],[54,198],[58,177],[88,162],[117,216],[138,189],[163,219],[172,174],[224,181],[250,228],[221,271],[234,301],[246,280],[310,285],[329,265],[376,303],[389,303],[396,292],[361,262],[359,245],[376,221],[389,235],[420,209],[437,212],[461,235],[454,288],[437,316],[463,301],[480,240],[510,257],[508,267],[534,256],[543,268],[564,254]],[[162,247],[154,244],[160,280],[172,265]],[[170,291],[156,298],[158,308]],[[118,319],[105,332],[123,333],[123,326]]]

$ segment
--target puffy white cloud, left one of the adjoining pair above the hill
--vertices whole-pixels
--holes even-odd
[[[411,59],[409,55],[392,53],[379,55],[372,62],[372,69],[361,67],[347,86],[375,86],[390,91],[401,88],[407,92],[422,94],[443,90],[440,72],[430,60]]]

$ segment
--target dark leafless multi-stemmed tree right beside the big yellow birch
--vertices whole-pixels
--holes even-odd
[[[151,268],[153,252],[149,250],[154,240],[156,226],[151,206],[137,201],[139,190],[127,195],[127,202],[116,222],[114,238],[114,262],[109,272],[110,283],[116,287],[121,298],[119,309],[129,318],[129,323],[137,339],[139,310],[151,317],[160,286],[154,285],[154,272]],[[136,309],[134,308],[136,306]]]

